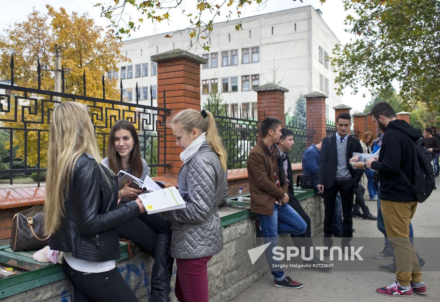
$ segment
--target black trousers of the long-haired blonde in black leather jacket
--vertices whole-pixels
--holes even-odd
[[[74,302],[138,302],[116,267],[103,273],[83,273],[64,261],[62,268],[73,285]]]

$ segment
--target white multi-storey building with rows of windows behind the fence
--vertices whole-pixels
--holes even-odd
[[[243,30],[236,31],[234,22],[214,24],[214,30],[204,40],[209,52],[196,49],[187,33],[165,38],[165,33],[124,41],[121,53],[131,62],[121,62],[119,71],[110,71],[108,76],[122,79],[123,95],[135,101],[136,83],[139,100],[150,104],[150,87],[153,91],[153,106],[157,98],[157,64],[150,61],[151,55],[172,49],[189,50],[208,59],[201,66],[201,103],[207,103],[212,91],[218,91],[227,104],[228,115],[254,116],[257,93],[253,87],[272,81],[276,69],[276,80],[289,89],[285,109],[294,106],[299,95],[322,91],[326,100],[327,117],[334,116],[332,107],[341,104],[341,97],[334,92],[334,77],[327,55],[339,40],[322,19],[322,12],[312,6],[242,19]],[[168,33],[172,35],[172,33]],[[191,47],[191,48],[190,48]],[[293,108],[293,107],[292,107]]]

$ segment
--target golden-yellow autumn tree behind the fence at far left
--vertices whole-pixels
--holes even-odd
[[[111,69],[116,69],[116,65],[124,57],[120,54],[117,40],[110,31],[104,32],[102,27],[96,26],[94,20],[88,18],[87,14],[78,15],[73,12],[71,15],[66,13],[64,8],[59,11],[47,5],[47,13],[41,13],[35,9],[22,23],[10,25],[5,30],[5,34],[0,36],[0,76],[8,79],[11,76],[11,56],[14,55],[14,83],[17,86],[37,88],[37,59],[41,65],[41,89],[54,90],[55,69],[54,51],[55,44],[62,47],[62,65],[69,70],[65,75],[65,93],[83,95],[83,74],[86,77],[86,95],[89,97],[102,98],[103,74]],[[119,100],[120,92],[116,89],[117,80],[105,78],[106,99]],[[19,91],[15,91],[19,93]],[[32,130],[14,130],[13,144],[19,146],[16,151],[16,157],[27,161],[28,165],[38,164],[38,155],[40,154],[40,167],[45,167],[48,146],[48,109],[53,108],[54,103],[45,101],[45,111],[38,114],[29,114],[22,106],[35,106],[32,98],[38,99],[38,104],[42,99],[48,100],[48,95],[28,95],[26,99],[20,99],[18,108],[14,108],[14,102],[11,102],[9,113],[0,113],[3,120],[1,126],[6,128],[25,129],[22,119],[29,121],[26,129]],[[12,99],[12,98],[11,98]],[[61,101],[71,99],[62,98]],[[108,107],[108,104],[81,101],[87,105]],[[111,105],[110,105],[111,106]],[[37,107],[36,107],[37,108]],[[91,114],[97,116],[95,121],[98,126],[97,132],[108,132],[110,123],[106,124],[106,117],[111,114],[119,116],[121,106],[114,106],[114,109],[90,108]],[[17,111],[17,121],[14,121],[14,113]],[[8,122],[7,120],[11,120]],[[40,124],[36,124],[36,122]],[[25,149],[24,141],[27,141]],[[38,145],[40,140],[40,145]],[[98,135],[98,142],[103,145],[103,138]],[[40,153],[38,147],[40,146]],[[5,143],[5,148],[9,148],[9,142]],[[25,156],[27,153],[27,156]]]

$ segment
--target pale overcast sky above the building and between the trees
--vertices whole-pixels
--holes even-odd
[[[4,13],[2,14],[2,18],[0,18],[0,32],[4,34],[4,28],[6,28],[8,24],[25,21],[26,15],[32,11],[32,7],[35,7],[38,11],[47,12],[45,7],[46,4],[50,4],[55,9],[64,7],[68,13],[71,13],[72,11],[76,11],[79,14],[87,12],[89,17],[95,19],[96,24],[106,27],[109,25],[109,22],[100,17],[101,8],[93,7],[93,5],[98,2],[105,2],[105,0],[19,0],[18,2],[4,0],[2,1],[2,11]],[[194,11],[196,3],[195,0],[184,0],[183,2],[185,14],[189,14],[190,11]],[[269,0],[265,7],[260,7],[259,9],[257,9],[256,6],[247,7],[246,11],[244,11],[244,17],[260,15],[273,11],[281,11],[305,5],[312,5],[315,9],[321,9],[323,12],[324,21],[338,37],[341,43],[344,44],[349,41],[351,36],[344,32],[344,19],[347,15],[347,12],[344,11],[341,0],[327,0],[324,4],[321,4],[319,0],[304,0],[303,3],[301,3],[299,0]],[[139,18],[136,11],[132,11],[131,13],[133,18]],[[183,14],[180,14],[180,11],[175,11],[170,15],[172,22],[168,23],[162,22],[160,24],[153,25],[150,21],[144,21],[140,29],[132,33],[132,36],[128,39],[181,29],[182,26],[180,24],[187,24],[187,18]],[[144,19],[146,20],[146,18]],[[218,16],[218,19],[215,19],[215,22],[221,21],[226,21],[226,17],[224,17],[224,15]],[[351,90],[345,91],[345,94],[342,97],[342,103],[351,106],[353,110],[363,111],[367,102],[370,101],[370,93],[364,88],[360,88],[357,95],[351,95],[350,92]],[[363,93],[366,95],[365,98],[362,97]]]

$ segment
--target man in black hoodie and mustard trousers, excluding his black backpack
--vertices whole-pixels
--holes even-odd
[[[426,294],[418,258],[409,239],[409,224],[417,208],[418,196],[406,180],[409,178],[414,184],[414,142],[420,134],[406,121],[397,120],[388,103],[375,104],[371,116],[376,127],[385,134],[379,157],[368,159],[365,167],[379,172],[381,211],[397,265],[396,281],[377,291],[389,296],[412,296],[413,291]]]

